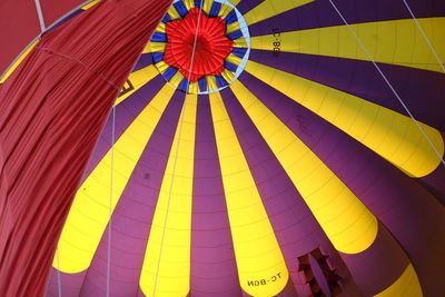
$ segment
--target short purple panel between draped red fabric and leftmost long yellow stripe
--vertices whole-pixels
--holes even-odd
[[[162,78],[162,76],[157,76],[116,107],[115,141],[119,139],[128,126],[130,126],[131,122],[139,116],[139,113],[159,92],[165,83],[166,80]],[[91,171],[111,148],[111,131],[112,112],[110,113],[107,123],[100,133],[95,151],[92,152],[87,169],[83,172],[82,181],[85,181],[85,179],[91,174]]]

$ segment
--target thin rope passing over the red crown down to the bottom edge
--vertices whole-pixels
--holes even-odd
[[[161,241],[160,241],[158,265],[156,267],[155,286],[154,286],[154,294],[152,294],[154,297],[155,297],[155,294],[156,294],[156,287],[158,285],[160,260],[162,258],[164,239],[165,239],[165,235],[166,235],[166,226],[167,226],[168,212],[169,212],[169,208],[170,208],[171,191],[172,191],[172,187],[174,187],[175,171],[176,171],[176,165],[177,165],[178,154],[179,154],[179,142],[180,142],[180,138],[181,138],[181,133],[182,133],[182,122],[184,122],[184,113],[185,113],[185,109],[186,109],[186,99],[187,99],[188,88],[190,87],[190,78],[191,78],[191,71],[192,71],[192,68],[194,68],[196,43],[197,43],[197,40],[198,40],[199,24],[200,24],[201,14],[202,14],[202,2],[204,2],[204,0],[200,0],[200,4],[199,4],[200,9],[199,9],[199,13],[198,13],[198,22],[196,24],[194,47],[191,49],[191,61],[190,61],[188,79],[187,79],[186,96],[185,96],[185,99],[184,99],[184,106],[182,106],[182,109],[181,109],[181,115],[180,115],[179,123],[178,123],[179,125],[179,127],[178,127],[178,143],[176,146],[176,152],[175,152],[176,155],[175,155],[174,168],[172,168],[172,172],[171,172],[171,182],[170,182],[170,188],[169,188],[169,192],[168,192],[166,216],[165,216],[165,219],[164,219],[164,229],[162,229],[162,237],[161,237]]]

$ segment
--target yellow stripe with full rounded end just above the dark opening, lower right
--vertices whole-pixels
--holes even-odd
[[[238,80],[230,86],[334,247],[345,254],[367,249],[377,219],[345,184]]]

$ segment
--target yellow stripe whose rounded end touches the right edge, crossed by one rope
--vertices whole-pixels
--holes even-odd
[[[246,70],[314,111],[414,177],[424,177],[441,164],[415,122],[390,109],[327,86],[249,61]],[[441,133],[419,122],[441,156]]]

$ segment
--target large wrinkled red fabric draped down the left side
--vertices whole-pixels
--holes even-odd
[[[98,135],[170,0],[108,0],[43,36],[0,90],[0,296],[43,294]]]

